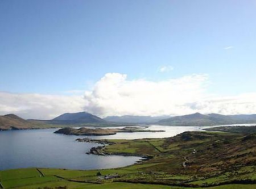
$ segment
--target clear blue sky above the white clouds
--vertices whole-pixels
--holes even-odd
[[[0,91],[69,95],[121,73],[207,74],[209,94],[254,93],[255,20],[252,0],[2,0]]]

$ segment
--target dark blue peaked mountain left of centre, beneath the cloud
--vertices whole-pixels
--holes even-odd
[[[106,120],[87,112],[65,113],[48,120],[47,123],[53,124],[84,124],[84,123],[106,123]]]

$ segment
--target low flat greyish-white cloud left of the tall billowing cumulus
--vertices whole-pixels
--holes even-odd
[[[0,115],[17,114],[25,119],[52,119],[64,112],[82,111],[82,96],[17,94],[0,92]]]

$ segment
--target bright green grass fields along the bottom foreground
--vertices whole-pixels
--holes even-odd
[[[118,172],[119,174],[136,174],[135,169],[143,169],[144,167],[149,167],[149,165],[144,166],[130,166],[128,169],[109,169],[109,170],[101,170],[102,174],[113,174]],[[67,188],[92,188],[92,189],[100,189],[100,188],[171,188],[171,186],[163,186],[160,184],[140,184],[140,183],[125,183],[125,182],[113,182],[114,180],[107,180],[101,182],[100,184],[96,183],[79,183],[77,181],[89,181],[89,180],[97,180],[96,173],[97,171],[80,171],[80,170],[63,170],[63,169],[40,169],[44,174],[44,177],[39,173],[36,168],[32,169],[15,169],[15,170],[7,170],[0,171],[1,175],[1,183],[4,188],[55,188],[60,186],[67,186]],[[60,179],[56,176],[63,177]],[[88,178],[90,178],[88,180]],[[73,181],[69,181],[73,180]],[[172,176],[167,179],[188,179],[188,177],[180,176]],[[253,184],[226,184],[222,186],[216,187],[207,187],[212,189],[222,189],[222,188],[230,188],[230,189],[252,189],[255,188],[256,185]],[[191,188],[191,187],[179,187],[172,186],[172,188]],[[201,188],[201,187],[198,187]]]

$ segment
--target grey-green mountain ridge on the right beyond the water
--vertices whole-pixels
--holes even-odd
[[[210,126],[235,123],[256,123],[256,115],[221,115],[221,114],[190,114],[175,116],[158,121],[160,125],[176,126]]]

